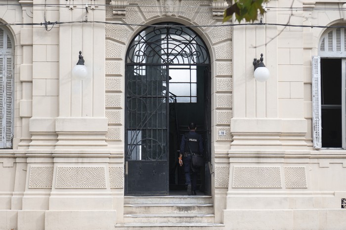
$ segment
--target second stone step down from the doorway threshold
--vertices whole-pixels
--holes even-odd
[[[124,214],[213,214],[213,204],[125,204]]]

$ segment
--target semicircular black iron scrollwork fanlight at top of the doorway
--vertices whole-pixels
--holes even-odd
[[[186,27],[148,27],[130,44],[128,63],[207,64],[208,51],[202,39]]]

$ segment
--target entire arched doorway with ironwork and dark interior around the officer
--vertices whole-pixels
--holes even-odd
[[[125,193],[167,195],[184,189],[177,163],[181,135],[193,121],[203,134],[210,193],[210,57],[203,40],[175,23],[148,26],[126,55]]]

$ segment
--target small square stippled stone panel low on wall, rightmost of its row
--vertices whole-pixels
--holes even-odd
[[[284,167],[286,188],[307,188],[305,167]]]

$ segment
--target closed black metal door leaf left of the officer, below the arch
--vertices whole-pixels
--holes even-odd
[[[166,70],[127,67],[127,194],[168,194]]]

